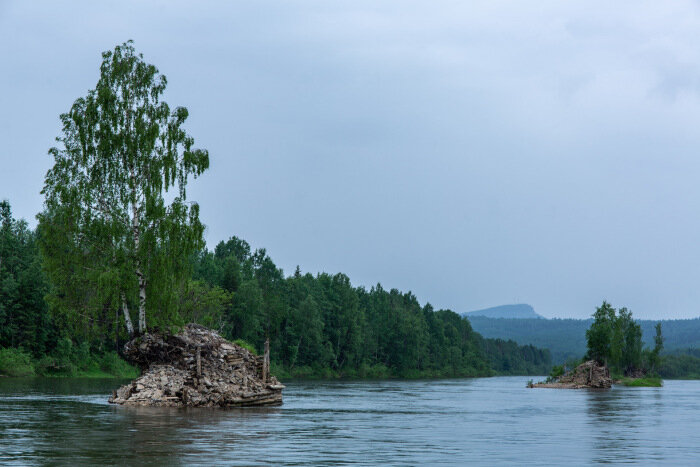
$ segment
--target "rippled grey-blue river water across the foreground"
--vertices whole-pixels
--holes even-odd
[[[0,464],[700,464],[700,381],[287,383],[281,407],[126,408],[114,380],[0,379]]]

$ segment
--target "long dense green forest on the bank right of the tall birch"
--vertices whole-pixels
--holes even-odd
[[[410,292],[353,287],[344,274],[284,277],[264,249],[235,237],[194,262],[196,281],[233,297],[206,319],[259,351],[269,338],[272,359],[290,375],[528,374],[551,361],[532,346],[483,339],[466,319],[421,306]]]

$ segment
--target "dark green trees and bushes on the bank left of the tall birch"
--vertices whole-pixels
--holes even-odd
[[[37,235],[0,202],[0,374],[130,376],[106,334],[71,334],[49,312]],[[103,328],[103,332],[107,328]]]

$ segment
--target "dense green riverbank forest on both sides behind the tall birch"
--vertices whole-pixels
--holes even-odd
[[[117,356],[128,338],[119,313],[62,305],[37,231],[12,216],[8,201],[0,206],[0,373],[133,371]],[[258,351],[269,338],[283,377],[544,374],[551,366],[548,350],[485,339],[467,319],[421,305],[410,292],[380,284],[367,290],[344,274],[298,268],[285,276],[264,249],[236,237],[201,249],[188,263],[167,325],[197,322]]]

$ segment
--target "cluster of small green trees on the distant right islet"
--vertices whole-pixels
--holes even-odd
[[[603,302],[593,313],[593,323],[586,331],[588,354],[586,358],[596,360],[625,375],[638,371],[654,372],[663,349],[661,323],[656,324],[656,345],[652,350],[643,349],[642,328],[632,318],[627,308],[615,310]]]

